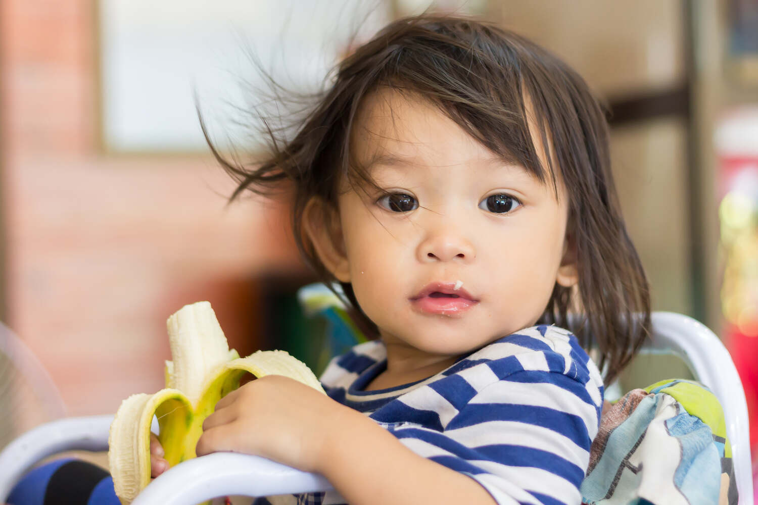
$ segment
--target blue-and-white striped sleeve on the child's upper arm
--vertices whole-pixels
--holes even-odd
[[[415,453],[478,481],[500,505],[578,504],[600,412],[591,387],[554,371],[518,371],[478,391],[441,430],[389,429]]]

